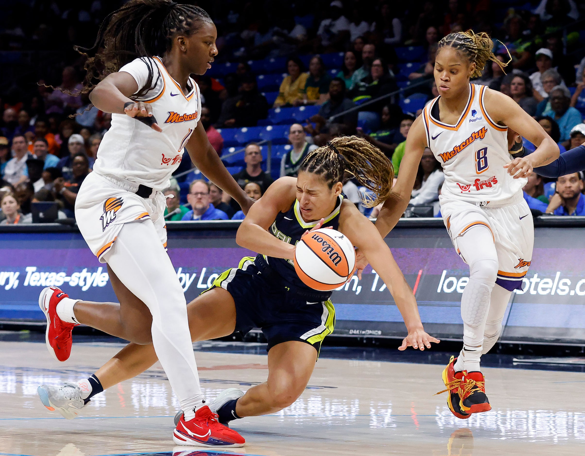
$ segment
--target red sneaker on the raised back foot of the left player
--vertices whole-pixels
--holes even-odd
[[[47,318],[47,330],[45,342],[47,350],[57,361],[67,361],[71,354],[71,331],[77,324],[64,322],[57,315],[57,303],[63,298],[68,298],[57,286],[47,286],[39,295],[39,307]]]

